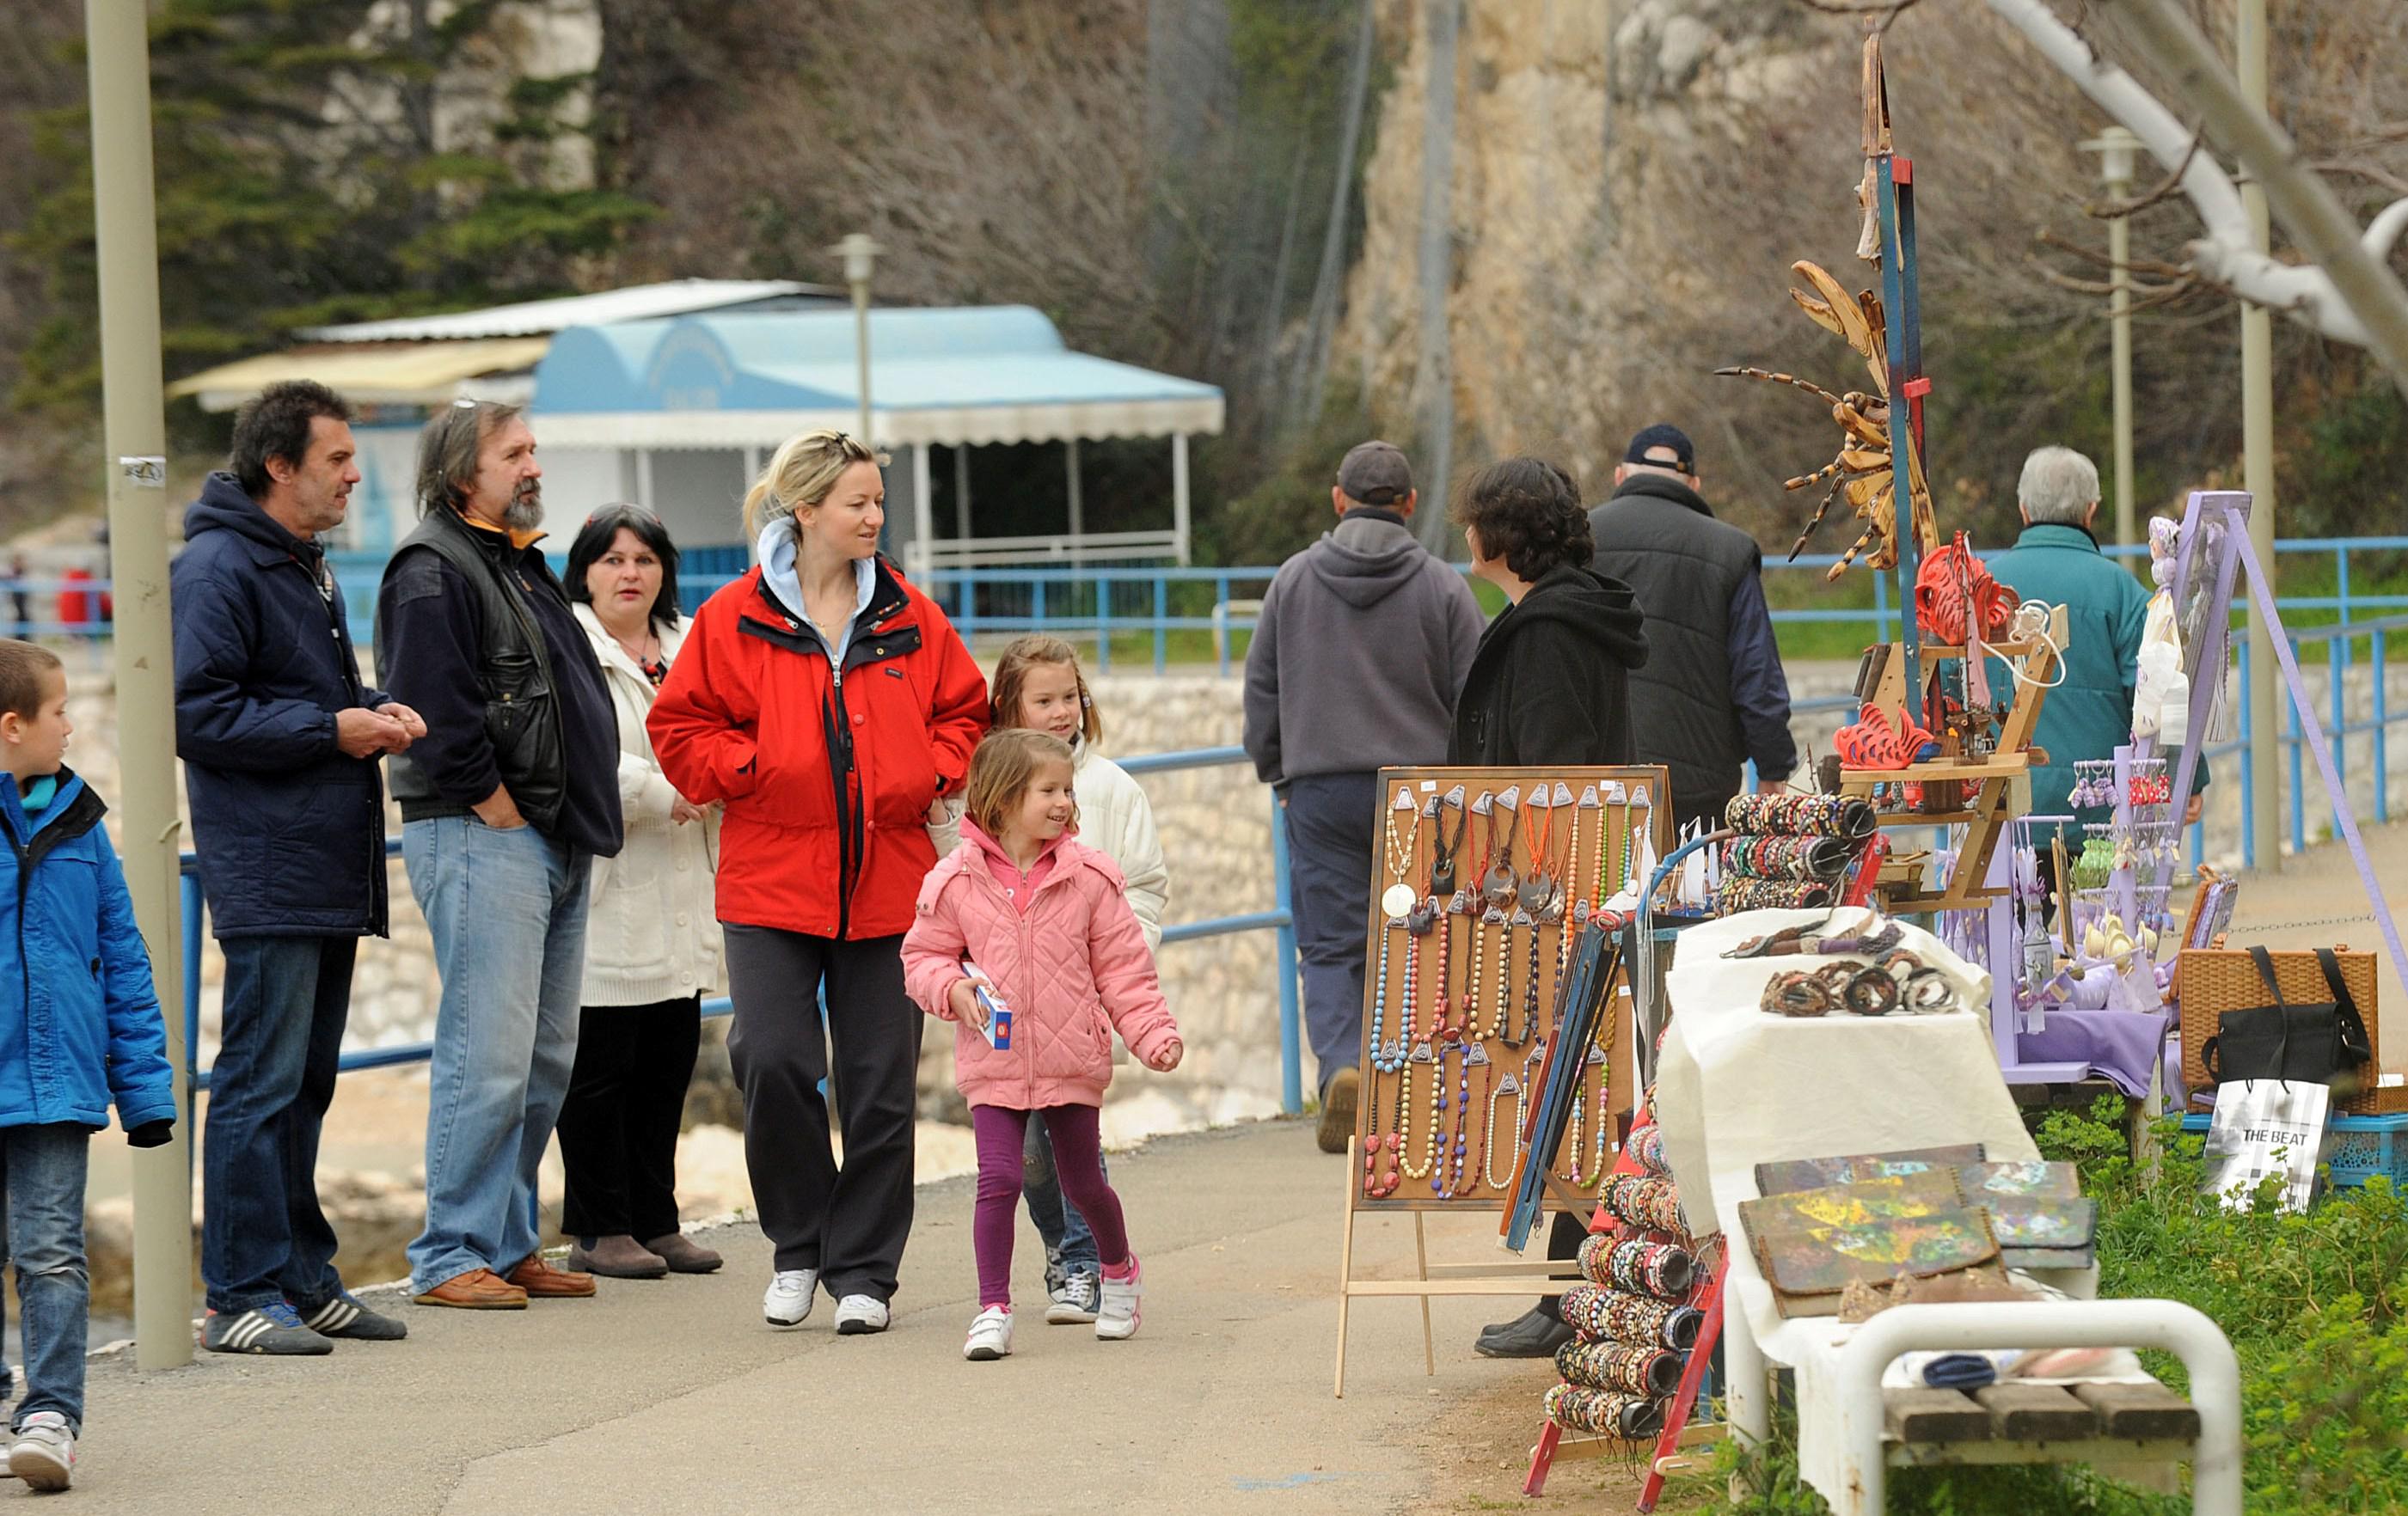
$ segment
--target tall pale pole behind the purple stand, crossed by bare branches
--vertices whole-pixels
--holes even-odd
[[[2239,0],[2235,31],[2242,94],[2266,111],[2266,0]],[[2242,214],[2249,217],[2251,248],[2271,248],[2266,188],[2251,173],[2242,180]],[[2249,546],[2266,573],[2273,556],[2273,313],[2266,306],[2242,306],[2242,488],[2249,491]],[[2273,590],[2273,585],[2268,585]],[[2273,659],[2273,628],[2249,606],[2249,780],[2251,780],[2251,852],[2256,866],[2283,869],[2283,763],[2278,758],[2283,674]]]

